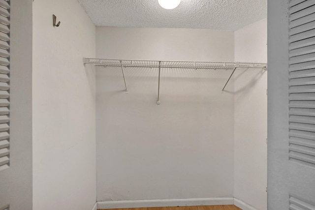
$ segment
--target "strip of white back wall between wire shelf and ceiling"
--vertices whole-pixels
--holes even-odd
[[[234,62],[233,32],[96,27],[96,56],[108,59]]]

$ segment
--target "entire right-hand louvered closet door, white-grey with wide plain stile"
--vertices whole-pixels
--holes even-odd
[[[315,0],[268,0],[268,210],[315,210]]]

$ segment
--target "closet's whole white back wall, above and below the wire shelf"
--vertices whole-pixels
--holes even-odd
[[[96,27],[96,56],[234,61],[229,31]],[[231,70],[96,70],[97,201],[233,197]]]

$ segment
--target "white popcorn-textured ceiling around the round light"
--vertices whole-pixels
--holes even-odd
[[[267,0],[78,0],[96,26],[237,30],[267,17]]]

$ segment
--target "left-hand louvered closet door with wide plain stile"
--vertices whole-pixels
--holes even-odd
[[[32,210],[32,0],[0,0],[0,210]]]

